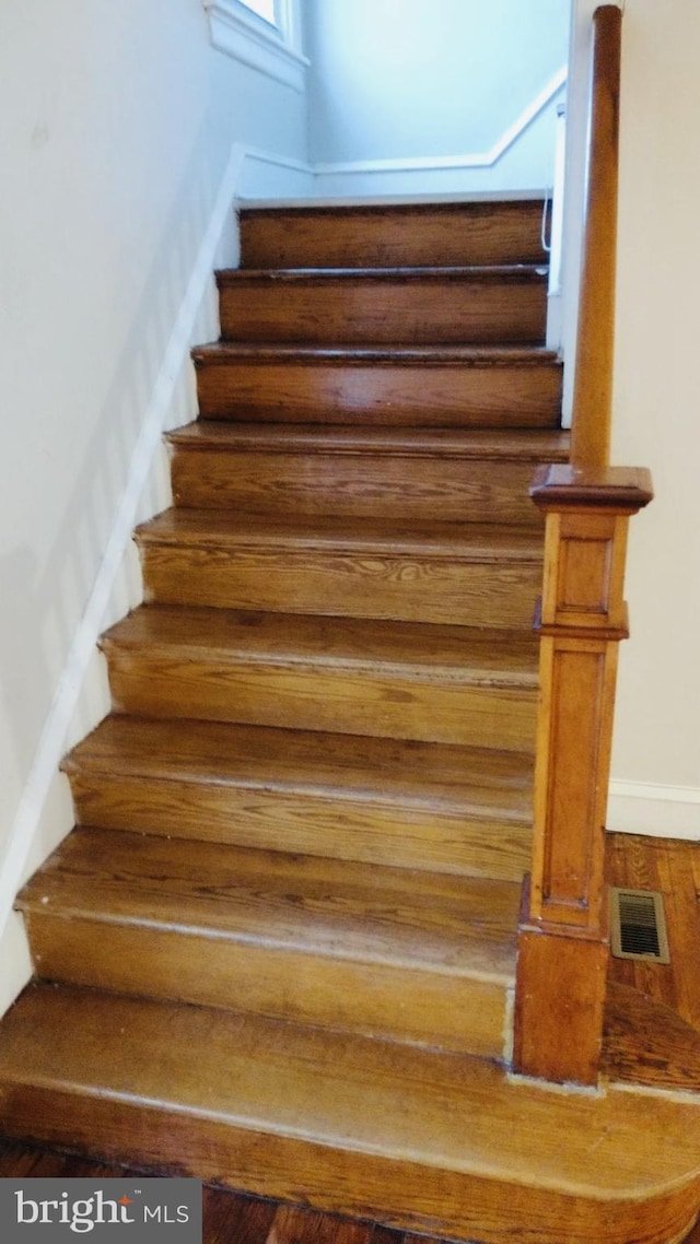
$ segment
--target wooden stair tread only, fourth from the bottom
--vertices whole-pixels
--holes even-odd
[[[173,658],[265,662],[390,673],[451,683],[537,687],[537,639],[529,632],[420,622],[148,605],[117,622],[102,647]]]

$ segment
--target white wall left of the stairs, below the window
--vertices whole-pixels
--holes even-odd
[[[194,411],[167,347],[240,142],[304,160],[305,100],[214,51],[201,0],[0,5],[0,899],[144,414],[163,386],[169,423]],[[167,499],[156,473],[140,513]],[[62,779],[50,801],[59,835]]]

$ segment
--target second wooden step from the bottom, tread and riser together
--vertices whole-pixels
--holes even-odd
[[[50,980],[502,1052],[511,882],[81,830],[19,902]]]

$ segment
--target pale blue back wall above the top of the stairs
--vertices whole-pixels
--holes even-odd
[[[304,11],[320,192],[551,185],[556,100],[493,167],[440,163],[491,152],[552,82],[568,0],[306,0]]]

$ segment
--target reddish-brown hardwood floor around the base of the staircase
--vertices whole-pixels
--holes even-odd
[[[608,876],[613,884],[663,892],[671,952],[669,965],[613,959],[612,979],[634,985],[700,1029],[700,845],[613,835]],[[98,1161],[0,1141],[0,1178],[106,1178],[123,1173],[122,1168]],[[219,1188],[204,1191],[204,1244],[420,1244],[420,1240],[440,1244],[303,1207]],[[700,1225],[685,1244],[700,1244]]]

